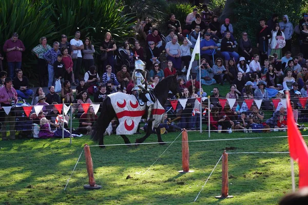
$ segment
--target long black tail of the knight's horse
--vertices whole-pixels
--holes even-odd
[[[106,121],[106,118],[107,118],[106,115],[108,115],[108,112],[107,112],[108,102],[110,105],[110,98],[107,96],[104,99],[103,103],[101,103],[101,106],[100,106],[101,114],[98,120],[95,122],[94,129],[91,134],[91,139],[93,141],[99,141],[101,137],[104,137],[106,128],[104,128],[104,126],[102,125],[104,124],[104,121]],[[109,122],[108,122],[108,125],[109,125]]]

